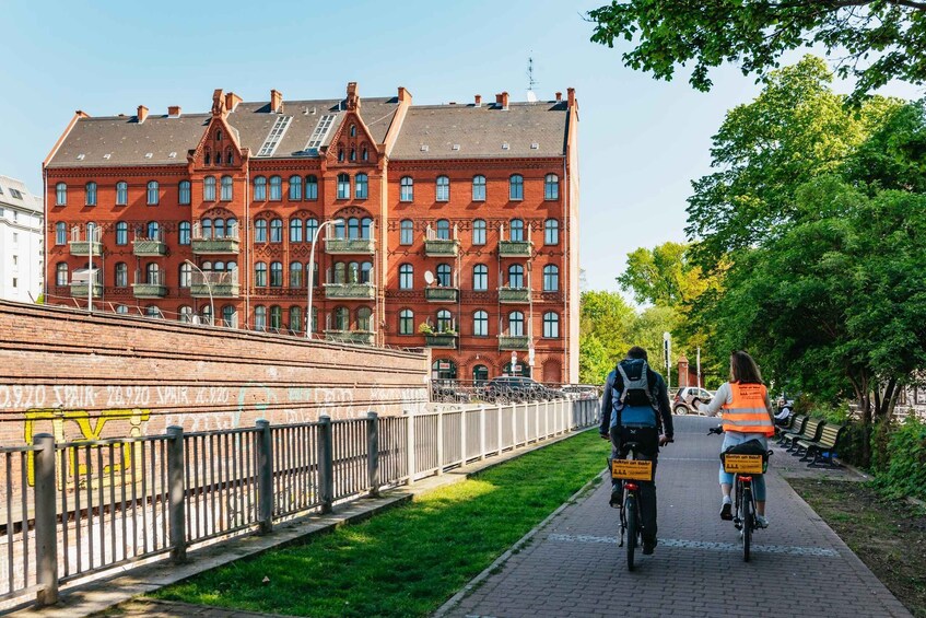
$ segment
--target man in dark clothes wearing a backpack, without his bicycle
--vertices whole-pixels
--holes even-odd
[[[640,444],[638,453],[653,460],[655,475],[659,446],[672,441],[672,412],[666,381],[649,368],[643,348],[631,348],[626,358],[608,374],[598,431],[601,438],[611,441],[611,458],[625,457],[625,444]],[[620,508],[621,481],[611,482],[610,504]],[[656,483],[641,482],[640,491],[643,553],[650,555],[656,547]]]

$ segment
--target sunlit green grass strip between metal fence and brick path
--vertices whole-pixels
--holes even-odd
[[[151,596],[295,616],[427,616],[599,474],[607,456],[587,431]]]

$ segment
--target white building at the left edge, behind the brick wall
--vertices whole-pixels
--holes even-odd
[[[0,299],[32,303],[42,294],[43,221],[42,198],[0,176]]]

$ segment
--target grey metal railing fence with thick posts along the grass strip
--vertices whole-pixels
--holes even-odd
[[[401,417],[0,448],[0,599],[187,549],[548,440],[597,399],[450,406]],[[5,548],[2,545],[5,544]],[[5,572],[3,572],[5,571]]]

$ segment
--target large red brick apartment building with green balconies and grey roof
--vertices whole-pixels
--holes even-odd
[[[305,336],[313,273],[313,336],[432,348],[435,377],[575,382],[577,121],[572,89],[412,105],[355,83],[77,112],[44,163],[47,302]]]

